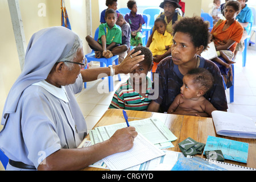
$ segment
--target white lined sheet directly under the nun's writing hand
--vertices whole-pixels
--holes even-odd
[[[134,139],[133,148],[129,151],[107,156],[102,161],[110,170],[120,171],[163,155],[166,155],[166,153],[138,133],[138,136]]]

